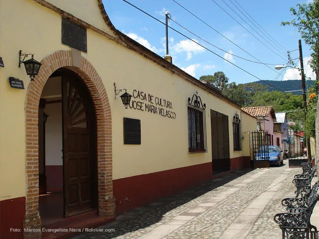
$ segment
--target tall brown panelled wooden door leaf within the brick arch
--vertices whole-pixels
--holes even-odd
[[[89,91],[80,78],[62,73],[64,216],[97,203],[96,120]]]

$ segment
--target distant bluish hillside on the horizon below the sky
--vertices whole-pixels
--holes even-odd
[[[278,88],[274,88],[272,86],[269,86],[268,84]],[[264,86],[268,87],[268,91],[296,91],[296,90],[302,90],[301,86],[301,80],[289,80],[289,81],[255,81],[254,83],[261,84]],[[306,81],[306,89],[307,89],[307,83],[308,83],[308,88],[312,88],[315,86],[315,81]],[[245,85],[245,84],[244,84]],[[296,95],[302,95],[302,91],[296,91],[292,92],[293,94]]]

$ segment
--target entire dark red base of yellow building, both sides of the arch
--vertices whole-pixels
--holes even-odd
[[[249,157],[230,159],[231,171],[241,169],[242,165],[245,167],[247,162],[250,166]],[[209,162],[113,180],[116,213],[121,214],[145,206],[221,175],[223,174],[212,176],[212,163]],[[51,189],[57,189],[59,185],[59,182],[51,184]],[[25,197],[0,201],[0,239],[22,239],[24,216]],[[16,229],[16,232],[13,232],[13,229]]]

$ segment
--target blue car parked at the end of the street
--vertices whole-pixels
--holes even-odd
[[[268,149],[268,153],[267,153]],[[269,159],[270,165],[283,165],[284,164],[284,152],[278,146],[269,145],[266,147],[261,147],[257,154],[256,160]]]

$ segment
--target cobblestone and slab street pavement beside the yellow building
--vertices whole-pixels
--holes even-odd
[[[280,239],[274,215],[284,212],[282,199],[294,196],[292,180],[298,173],[302,169],[289,168],[287,161],[280,167],[224,175],[99,228],[114,232],[73,239]],[[311,218],[317,227],[318,208]]]

